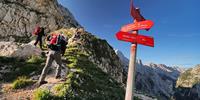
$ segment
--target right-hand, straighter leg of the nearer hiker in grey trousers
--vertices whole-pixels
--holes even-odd
[[[55,61],[58,64],[58,66],[56,68],[56,75],[55,75],[55,77],[60,77],[61,68],[62,68],[62,61],[61,61],[61,54],[60,54],[60,52],[56,52],[55,53]]]

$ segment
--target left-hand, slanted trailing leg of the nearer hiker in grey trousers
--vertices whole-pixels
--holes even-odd
[[[49,51],[49,54],[47,56],[47,60],[46,60],[46,64],[45,64],[45,67],[43,68],[42,70],[42,74],[40,76],[40,79],[38,81],[38,83],[41,83],[42,81],[44,81],[45,77],[46,77],[46,74],[48,72],[48,68],[51,66],[52,62],[53,62],[53,56],[52,56],[52,52]]]

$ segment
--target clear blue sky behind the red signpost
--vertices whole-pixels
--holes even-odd
[[[58,0],[85,28],[129,58],[131,43],[119,41],[115,34],[133,22],[130,0]],[[154,22],[149,31],[155,47],[139,45],[137,58],[143,63],[194,67],[200,64],[200,0],[134,0],[141,14]]]

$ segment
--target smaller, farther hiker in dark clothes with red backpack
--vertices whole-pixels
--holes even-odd
[[[45,36],[44,34],[44,28],[43,27],[36,27],[34,33],[34,35],[36,35],[36,41],[34,43],[34,45],[36,46],[38,42],[40,42],[40,49],[43,50],[42,48],[42,36]]]

